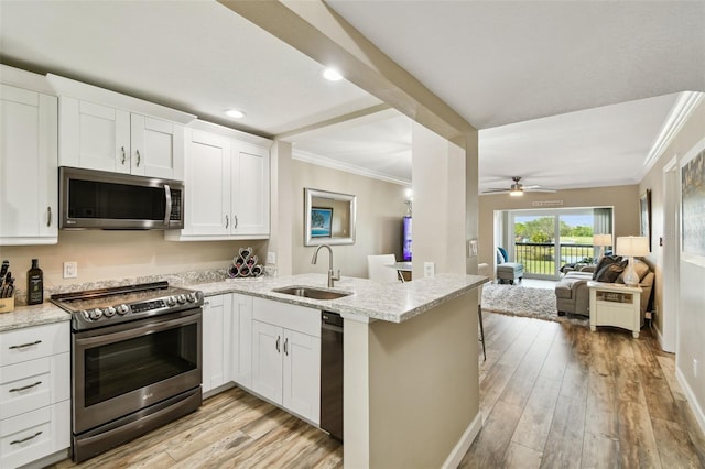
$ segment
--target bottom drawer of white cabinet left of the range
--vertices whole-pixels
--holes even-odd
[[[0,421],[0,467],[13,468],[68,448],[69,401]]]

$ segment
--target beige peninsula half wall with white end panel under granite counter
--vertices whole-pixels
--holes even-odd
[[[473,290],[401,324],[345,321],[345,467],[443,466],[479,413],[476,305]]]

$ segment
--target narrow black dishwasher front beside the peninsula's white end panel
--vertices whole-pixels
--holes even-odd
[[[343,441],[343,318],[321,313],[321,428]]]

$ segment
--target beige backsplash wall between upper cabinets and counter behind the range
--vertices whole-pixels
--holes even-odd
[[[26,288],[26,271],[37,258],[44,287],[106,280],[135,279],[192,270],[225,269],[240,247],[250,246],[263,262],[265,241],[164,241],[163,231],[59,231],[58,244],[2,246],[20,288]],[[64,261],[78,262],[78,277],[63,279]]]

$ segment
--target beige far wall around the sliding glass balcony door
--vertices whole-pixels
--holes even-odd
[[[562,206],[550,208],[614,207],[615,237],[639,234],[639,187],[612,186],[586,189],[568,189],[551,193],[527,193],[522,197],[508,194],[482,195],[479,197],[479,260],[489,265],[495,263],[495,211],[535,210],[532,203],[563,200]]]

